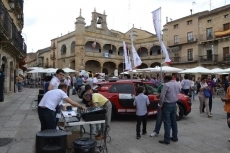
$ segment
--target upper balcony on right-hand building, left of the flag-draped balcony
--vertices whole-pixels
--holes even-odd
[[[183,37],[183,38],[178,38],[176,40],[170,40],[167,42],[167,45],[169,47],[172,46],[178,46],[178,45],[183,45],[183,44],[188,44],[188,43],[194,43],[197,42],[197,36],[191,36],[191,37]]]

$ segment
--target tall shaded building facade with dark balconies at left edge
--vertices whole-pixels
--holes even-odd
[[[23,0],[0,2],[0,71],[4,74],[4,92],[16,92],[19,68],[25,69],[26,44],[21,35],[23,28]]]

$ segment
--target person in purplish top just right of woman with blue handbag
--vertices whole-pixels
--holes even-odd
[[[212,111],[212,99],[215,98],[215,83],[212,80],[212,76],[208,75],[208,79],[207,79],[207,84],[209,86],[209,92],[210,92],[210,97],[209,97],[209,111],[210,114],[212,115],[211,111]],[[205,109],[205,104],[203,105],[203,109],[202,112],[204,113],[204,109]]]

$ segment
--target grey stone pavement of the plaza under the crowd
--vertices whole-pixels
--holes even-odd
[[[0,153],[34,152],[35,135],[40,129],[35,107],[37,94],[38,89],[25,89],[6,95],[5,101],[0,103],[0,138],[15,139],[13,143],[0,147]],[[75,95],[70,97],[79,101]],[[120,116],[111,123],[109,153],[229,153],[230,129],[220,98],[214,99],[212,114],[212,118],[201,116],[199,101],[193,101],[192,112],[178,122],[179,141],[170,145],[158,143],[163,140],[163,126],[158,137],[149,137],[155,117],[148,117],[148,133],[137,140],[135,116]]]

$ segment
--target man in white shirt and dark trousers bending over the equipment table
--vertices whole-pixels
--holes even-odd
[[[55,108],[62,100],[65,100],[67,103],[70,103],[72,106],[80,109],[87,109],[86,107],[81,106],[77,102],[71,100],[66,94],[67,89],[68,87],[66,84],[60,84],[58,89],[48,91],[42,98],[38,105],[38,116],[41,122],[41,131],[47,129],[56,129],[57,123]]]

